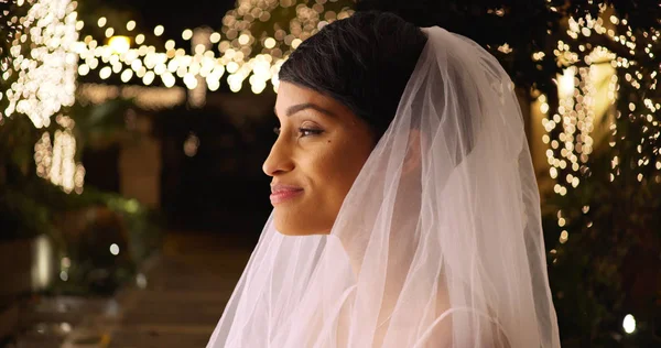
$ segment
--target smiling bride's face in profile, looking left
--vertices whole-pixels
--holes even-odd
[[[275,228],[283,235],[326,235],[376,140],[347,107],[282,81],[280,134],[263,164],[272,177]]]

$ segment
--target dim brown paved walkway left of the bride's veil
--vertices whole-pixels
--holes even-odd
[[[204,348],[254,243],[241,236],[169,233],[144,274],[116,297],[43,301],[44,309],[33,314],[42,326],[15,347]]]

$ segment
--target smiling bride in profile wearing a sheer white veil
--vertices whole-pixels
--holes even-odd
[[[560,347],[512,83],[358,12],[280,70],[273,213],[207,348]]]

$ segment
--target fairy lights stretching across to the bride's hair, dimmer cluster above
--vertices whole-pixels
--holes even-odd
[[[173,87],[178,78],[191,90],[196,89],[199,78],[203,78],[208,90],[215,91],[227,73],[227,83],[231,91],[241,90],[248,79],[251,91],[260,94],[268,81],[277,89],[280,65],[303,40],[323,25],[353,13],[346,6],[338,12],[326,10],[326,3],[332,8],[342,6],[337,0],[317,0],[311,6],[296,4],[293,0],[238,1],[237,8],[224,17],[220,32],[199,30],[206,37],[192,45],[191,54],[187,54],[184,47],[176,47],[174,40],[165,41],[163,48],[148,45],[144,34],[134,33],[136,21],[126,23],[126,31],[132,36],[115,35],[118,30],[109,26],[108,20],[101,17],[94,25],[105,29],[106,37],[102,40],[107,41],[107,44],[100,44],[91,35],[87,35],[73,46],[73,51],[80,57],[78,74],[82,76],[98,70],[101,79],[118,74],[122,83],[138,78],[143,85],[150,86],[158,84],[160,79],[165,87]],[[292,7],[295,8],[295,11],[290,11],[295,13],[293,17],[277,15],[278,11]],[[282,20],[275,21],[275,18]],[[253,26],[264,26],[266,22],[272,24],[272,29],[260,31],[257,37]],[[86,23],[78,21],[76,29],[83,30],[85,25]],[[153,34],[162,36],[164,31],[163,25],[156,25]],[[272,36],[268,32],[273,32]],[[186,29],[181,36],[191,41],[194,39],[194,30]],[[205,45],[204,41],[213,46]],[[133,44],[138,46],[132,47]]]

